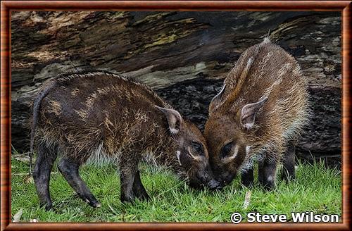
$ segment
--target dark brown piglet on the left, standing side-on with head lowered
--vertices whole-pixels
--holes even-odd
[[[51,208],[49,178],[54,161],[77,192],[101,206],[82,181],[83,163],[115,163],[121,201],[148,199],[138,164],[142,159],[167,166],[191,186],[220,188],[208,165],[199,129],[146,85],[97,71],[61,75],[42,87],[34,100],[31,149],[37,138],[34,182],[40,204]]]

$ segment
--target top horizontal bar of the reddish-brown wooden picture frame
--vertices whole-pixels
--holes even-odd
[[[6,1],[11,10],[341,11],[351,1]]]

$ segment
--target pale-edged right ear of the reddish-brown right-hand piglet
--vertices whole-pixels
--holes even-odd
[[[256,115],[260,108],[263,107],[268,97],[263,96],[258,102],[253,104],[246,104],[241,110],[241,125],[246,129],[251,129],[256,120]]]

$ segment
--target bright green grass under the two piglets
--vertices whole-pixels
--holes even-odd
[[[12,216],[23,209],[20,221],[37,219],[46,222],[231,222],[239,212],[287,214],[313,211],[341,216],[341,173],[325,168],[323,163],[298,164],[296,180],[289,184],[277,182],[277,189],[265,192],[258,184],[252,189],[239,185],[239,179],[220,192],[190,189],[185,182],[166,170],[141,166],[144,187],[151,201],[120,203],[120,180],[114,166],[102,168],[84,166],[82,178],[101,202],[92,208],[73,193],[58,170],[51,173],[53,210],[39,208],[34,183],[27,180],[27,164],[12,158]],[[246,192],[251,190],[251,202],[244,208]],[[341,218],[340,218],[341,219]]]

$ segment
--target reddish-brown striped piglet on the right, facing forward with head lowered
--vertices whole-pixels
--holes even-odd
[[[306,78],[294,57],[265,38],[246,49],[209,106],[204,135],[210,166],[220,182],[241,173],[253,183],[275,187],[277,164],[282,177],[294,178],[294,144],[308,122]]]

